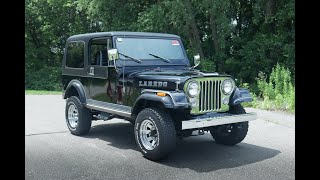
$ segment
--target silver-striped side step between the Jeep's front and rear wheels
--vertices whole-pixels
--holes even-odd
[[[129,106],[87,99],[86,107],[89,109],[107,112],[110,114],[116,114],[124,117],[131,117],[131,107]]]

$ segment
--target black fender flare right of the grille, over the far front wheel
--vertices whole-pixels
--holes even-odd
[[[234,106],[243,102],[251,102],[252,100],[248,89],[236,88],[230,97],[229,105]]]

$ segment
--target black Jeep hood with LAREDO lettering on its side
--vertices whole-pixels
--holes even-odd
[[[182,90],[184,83],[190,78],[196,77],[221,77],[228,76],[218,73],[204,73],[198,70],[181,69],[153,69],[136,71],[127,74],[128,81],[134,87],[148,89],[175,90],[176,82],[179,82],[179,89]]]

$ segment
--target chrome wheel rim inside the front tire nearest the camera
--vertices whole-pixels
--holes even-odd
[[[149,119],[142,121],[139,134],[141,143],[147,150],[153,150],[159,145],[158,129]]]

